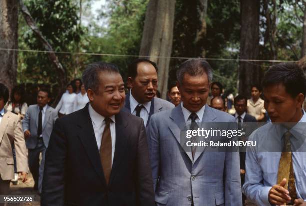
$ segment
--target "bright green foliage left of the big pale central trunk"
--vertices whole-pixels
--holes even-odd
[[[148,0],[110,0],[109,8],[101,12],[100,18],[108,18],[108,27],[89,36],[87,52],[139,55],[145,11]],[[98,28],[95,29],[98,31]],[[102,33],[102,36],[100,35]],[[126,79],[127,65],[136,57],[91,56],[89,61],[106,61],[119,66]]]

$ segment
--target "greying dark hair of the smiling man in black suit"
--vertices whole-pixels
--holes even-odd
[[[105,71],[120,74],[118,67],[112,63],[94,62],[87,65],[82,76],[86,91],[90,88],[94,93],[98,93],[100,85],[99,73]]]

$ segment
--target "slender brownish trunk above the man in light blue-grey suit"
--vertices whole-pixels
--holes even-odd
[[[202,58],[204,58],[206,54],[201,41],[205,38],[207,33],[207,23],[206,23],[207,3],[208,0],[198,0],[198,13],[201,21],[201,28],[196,33],[195,46],[196,50],[199,51],[199,53],[201,53]]]

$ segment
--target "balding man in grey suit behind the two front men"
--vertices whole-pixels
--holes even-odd
[[[154,113],[172,109],[174,104],[157,98],[157,65],[147,59],[137,59],[128,66],[128,87],[125,109],[133,115],[141,117],[144,125],[149,124]]]

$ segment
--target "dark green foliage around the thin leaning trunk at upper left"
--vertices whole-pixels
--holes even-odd
[[[79,7],[75,0],[26,0],[24,4],[54,51],[75,51],[85,31],[78,25]],[[19,48],[45,50],[21,14],[19,21]],[[67,72],[68,79],[72,78],[75,57],[67,54],[57,56]],[[19,75],[20,82],[56,83],[57,75],[46,53],[23,52],[19,54],[19,62],[22,62],[18,69],[19,73],[22,73]]]

